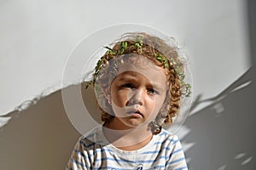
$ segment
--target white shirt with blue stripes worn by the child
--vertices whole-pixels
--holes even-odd
[[[75,145],[66,170],[188,169],[177,135],[162,130],[139,150],[119,150],[106,143],[102,127],[96,127]]]

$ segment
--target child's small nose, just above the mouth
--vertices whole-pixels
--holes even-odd
[[[131,89],[128,94],[127,105],[143,105],[143,90]]]

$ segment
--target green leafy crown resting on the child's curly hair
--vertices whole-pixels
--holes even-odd
[[[143,54],[143,47],[147,45],[143,42],[143,37],[140,35],[137,35],[135,42],[131,43],[131,41],[126,40],[119,43],[119,48],[104,47],[107,49],[107,52],[101,57],[101,59],[97,61],[96,67],[94,68],[95,72],[92,74],[92,79],[90,80],[90,82],[85,83],[85,88],[89,88],[90,85],[95,85],[96,78],[98,76],[98,73],[102,70],[102,66],[106,65],[106,63],[108,63],[108,60],[112,59],[111,57],[108,59],[104,58],[105,55],[118,56],[122,54]],[[131,48],[134,51],[131,51]],[[185,97],[189,97],[191,94],[191,85],[188,82],[184,82],[185,74],[181,61],[174,58],[169,59],[164,54],[158,52],[156,49],[151,52],[151,55],[152,54],[154,55],[155,59],[157,59],[164,66],[164,68],[168,69],[169,71],[174,68],[175,74],[177,74],[180,82],[181,94]]]

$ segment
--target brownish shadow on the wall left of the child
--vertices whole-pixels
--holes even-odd
[[[63,90],[73,94],[81,87],[83,86],[73,85]],[[84,90],[83,99],[89,111],[96,111],[95,105],[91,105],[96,104],[94,91]],[[86,102],[88,100],[90,102]],[[35,102],[36,105],[31,105],[26,110],[13,111],[3,116],[12,118],[3,127],[0,126],[1,169],[45,170],[66,167],[73,146],[81,134],[67,117],[61,90],[28,103]],[[27,105],[27,102],[24,104]],[[76,108],[73,111],[75,110]],[[100,122],[99,115],[94,118]],[[84,127],[88,129],[93,125],[88,119],[84,123]]]

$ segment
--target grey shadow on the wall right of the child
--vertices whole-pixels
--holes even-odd
[[[186,152],[191,160],[189,169],[256,169],[255,86],[249,84],[252,77],[250,69],[216,97],[195,99],[192,110],[201,102],[212,101],[212,105],[189,116],[183,125],[190,130],[183,143],[194,144]]]

